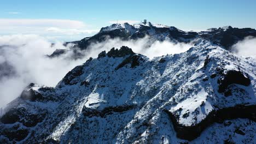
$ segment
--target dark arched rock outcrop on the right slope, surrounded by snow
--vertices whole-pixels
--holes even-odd
[[[230,70],[218,79],[218,83],[218,92],[223,93],[225,92],[226,88],[232,83],[249,86],[251,84],[251,80],[246,77],[241,71]]]

